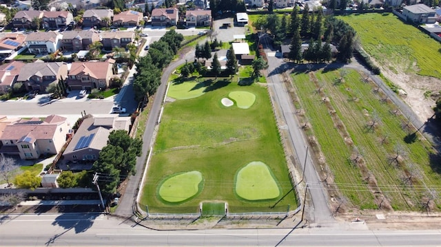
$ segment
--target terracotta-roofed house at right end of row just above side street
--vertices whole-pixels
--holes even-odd
[[[74,62],[70,67],[66,83],[71,90],[105,89],[114,77],[115,61]]]

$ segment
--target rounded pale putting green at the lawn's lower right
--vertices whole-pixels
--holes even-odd
[[[245,200],[269,200],[277,198],[280,190],[269,167],[254,161],[240,169],[236,175],[236,194]]]

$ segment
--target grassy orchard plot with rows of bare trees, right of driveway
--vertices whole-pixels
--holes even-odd
[[[336,201],[360,209],[440,209],[433,195],[441,186],[438,153],[373,82],[351,69],[292,77],[298,116],[324,156],[318,155],[320,175]]]

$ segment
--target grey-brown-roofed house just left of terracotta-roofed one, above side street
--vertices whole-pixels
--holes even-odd
[[[40,90],[45,92],[50,83],[58,82],[60,78],[68,76],[68,65],[61,62],[44,63],[36,61],[26,63],[17,78],[17,82],[23,83],[28,91]]]

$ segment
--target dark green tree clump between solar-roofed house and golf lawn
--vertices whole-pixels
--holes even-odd
[[[141,155],[143,141],[132,139],[125,130],[110,132],[107,146],[99,152],[92,171],[99,173],[99,186],[105,194],[114,193],[121,178],[136,172],[136,157]]]

